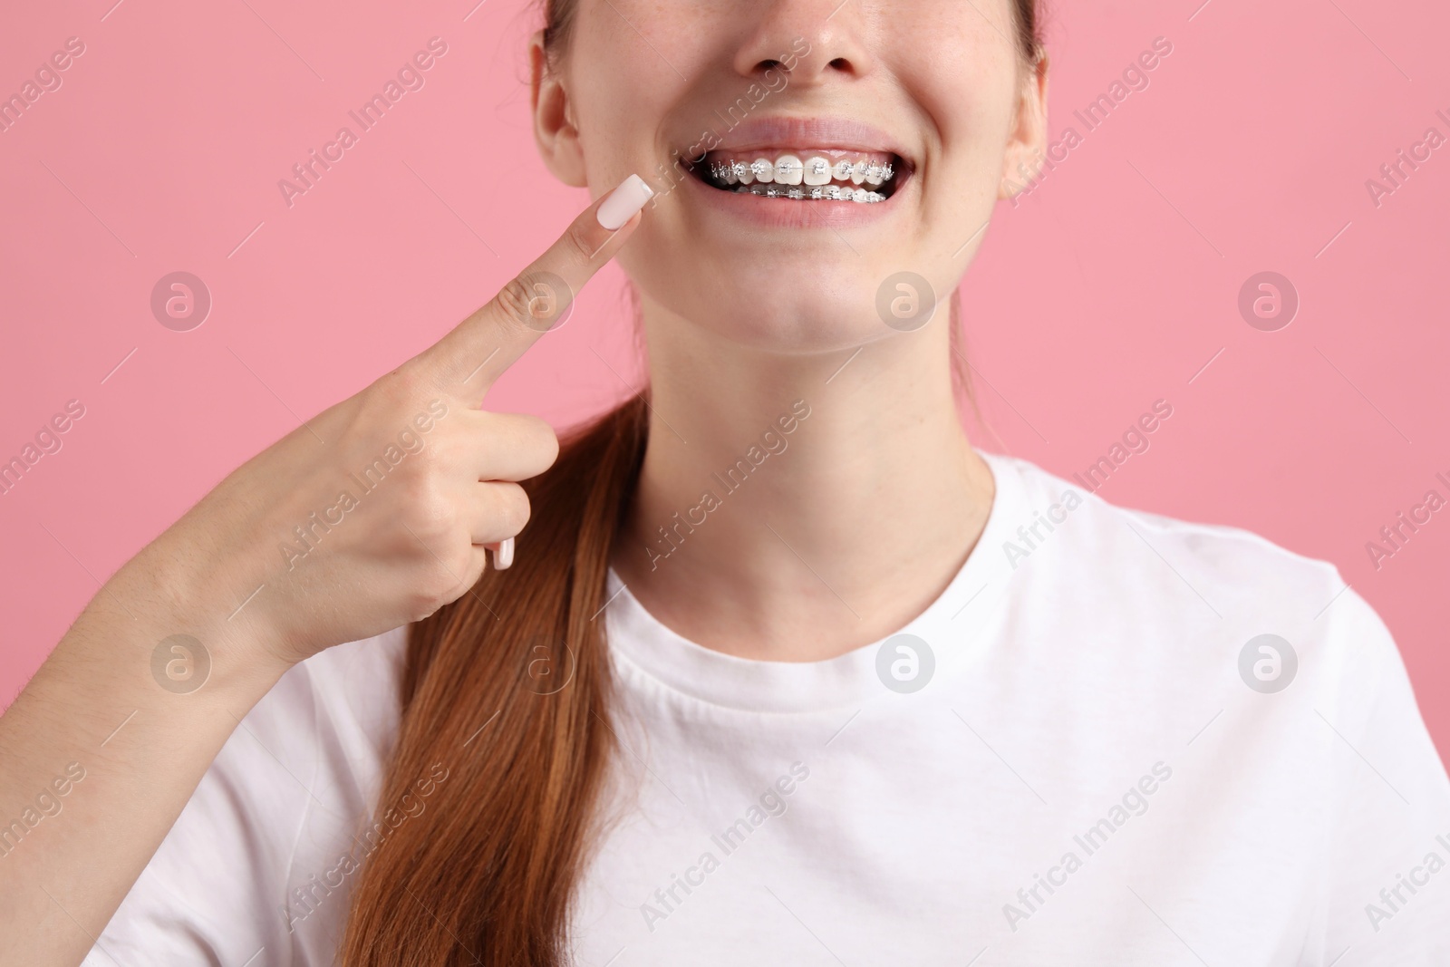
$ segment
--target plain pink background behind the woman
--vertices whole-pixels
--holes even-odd
[[[97,580],[438,338],[584,203],[534,154],[516,1],[112,3],[23,4],[0,32],[0,93],[86,43],[0,133],[0,460],[86,406],[0,496],[4,702]],[[1154,38],[1173,52],[999,206],[964,286],[979,445],[1069,476],[1167,399],[1102,494],[1334,561],[1395,632],[1443,752],[1450,509],[1379,570],[1364,544],[1428,489],[1450,497],[1450,146],[1379,207],[1364,181],[1427,128],[1450,135],[1447,30],[1438,3],[1058,0],[1054,139]],[[278,178],[435,35],[426,86],[289,209]],[[178,270],[215,303],[190,332],[149,309]],[[1302,300],[1277,332],[1237,310],[1264,270]],[[619,286],[606,270],[493,404],[567,423],[621,399],[593,352],[638,378]]]

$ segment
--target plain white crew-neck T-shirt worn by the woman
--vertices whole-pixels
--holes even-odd
[[[622,818],[574,963],[1450,964],[1450,781],[1375,612],[985,457],[986,531],[912,638],[747,661],[610,574]],[[374,815],[403,644],[284,676],[87,964],[332,963],[352,835],[428,809]]]

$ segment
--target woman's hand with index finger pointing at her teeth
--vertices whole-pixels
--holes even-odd
[[[249,460],[128,568],[212,621],[241,606],[228,629],[246,634],[228,636],[286,667],[458,599],[486,548],[508,567],[529,519],[518,481],[544,473],[558,441],[539,418],[478,406],[613,258],[648,197],[626,180],[489,304]]]

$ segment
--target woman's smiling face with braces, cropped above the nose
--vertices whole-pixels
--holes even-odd
[[[555,70],[535,43],[535,120],[564,181],[654,187],[619,257],[647,303],[845,348],[914,328],[877,310],[898,273],[945,302],[1021,181],[1045,78],[1019,51],[1011,0],[580,0]]]

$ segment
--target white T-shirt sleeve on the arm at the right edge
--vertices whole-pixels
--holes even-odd
[[[1338,819],[1325,966],[1450,964],[1450,780],[1395,641],[1356,593],[1335,606]]]

